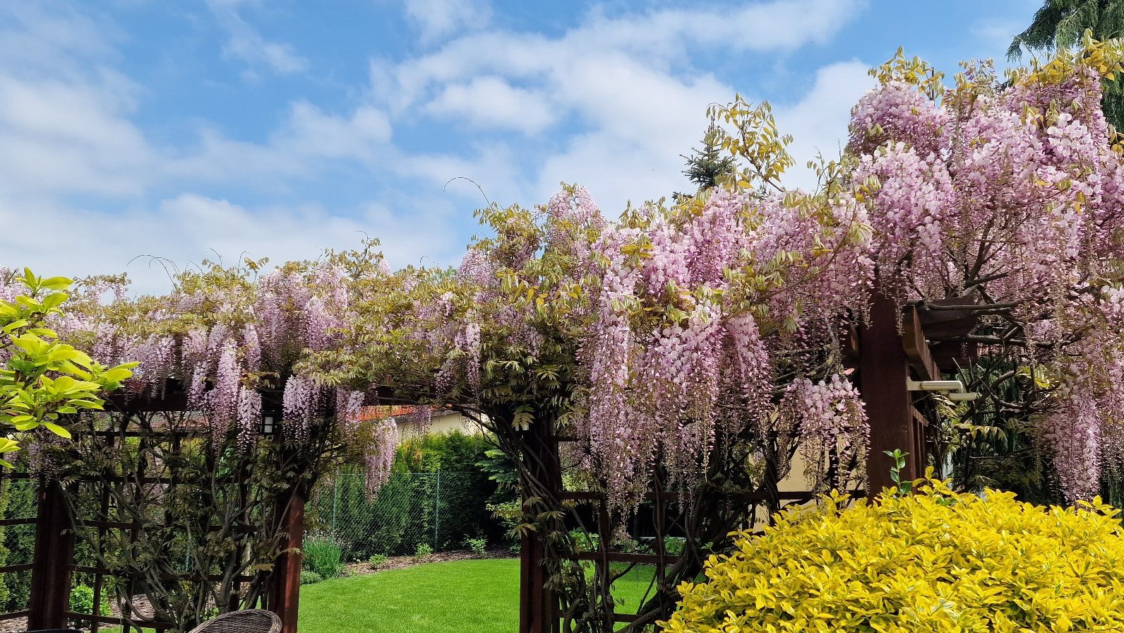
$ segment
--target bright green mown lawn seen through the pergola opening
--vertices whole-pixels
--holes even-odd
[[[622,611],[636,609],[651,573],[637,568],[614,584]],[[300,633],[510,633],[518,625],[518,559],[426,563],[300,591]]]

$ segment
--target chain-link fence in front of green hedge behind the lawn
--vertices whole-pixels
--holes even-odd
[[[502,535],[487,508],[495,485],[482,472],[395,473],[372,499],[363,474],[320,481],[307,506],[310,534],[330,535],[344,561],[463,549],[465,539]]]

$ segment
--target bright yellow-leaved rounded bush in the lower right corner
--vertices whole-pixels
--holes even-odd
[[[1009,492],[917,495],[783,514],[683,584],[669,633],[1124,632],[1124,530]]]

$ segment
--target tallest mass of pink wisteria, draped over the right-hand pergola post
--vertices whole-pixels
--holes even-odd
[[[1071,500],[1097,492],[1102,468],[1124,467],[1124,161],[1100,110],[1113,46],[1009,87],[973,67],[934,99],[888,81],[851,124],[882,288],[980,305],[981,353],[1017,347],[1051,383],[1039,438]]]

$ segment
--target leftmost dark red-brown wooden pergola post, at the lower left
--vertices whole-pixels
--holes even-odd
[[[66,629],[73,557],[74,534],[65,491],[57,481],[43,479],[35,524],[28,630]]]

